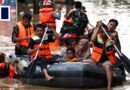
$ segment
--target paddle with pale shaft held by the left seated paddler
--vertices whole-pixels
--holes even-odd
[[[46,29],[45,29],[45,32],[44,32],[44,35],[43,35],[43,37],[42,37],[42,40],[41,40],[41,42],[40,42],[39,47],[42,46],[42,42],[44,41],[44,38],[45,38],[45,36],[46,36],[47,30],[48,30],[48,26],[47,26]],[[35,57],[34,57],[34,61],[32,62],[32,65],[31,65],[31,67],[30,67],[29,72],[27,73],[27,77],[29,77],[29,79],[27,80],[27,82],[30,81],[30,76],[31,76],[31,73],[32,73],[32,71],[33,71],[33,68],[35,67],[36,59],[37,59],[38,53],[39,53],[39,49],[37,50],[37,52],[36,52],[36,54],[35,54]]]

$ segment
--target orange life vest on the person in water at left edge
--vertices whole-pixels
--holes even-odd
[[[4,69],[5,68],[5,64],[4,63],[0,63],[0,69]],[[9,75],[6,76],[8,78],[12,78],[15,76],[15,70],[14,67],[12,65],[9,65]],[[0,76],[1,77],[1,76]],[[2,77],[1,77],[2,78]]]

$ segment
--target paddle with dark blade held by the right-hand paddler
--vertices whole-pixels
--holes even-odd
[[[107,37],[110,39],[110,36],[109,36],[108,32],[104,29],[104,27],[102,26],[101,28],[105,32]],[[130,74],[130,60],[129,60],[129,58],[126,55],[124,55],[121,51],[119,51],[119,49],[117,48],[117,46],[115,44],[114,44],[114,48],[116,49],[117,54],[118,54],[118,56],[123,64],[124,68]]]

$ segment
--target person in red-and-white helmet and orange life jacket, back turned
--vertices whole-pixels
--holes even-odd
[[[60,20],[61,18],[61,7],[58,6],[56,11],[54,11],[52,3],[48,3],[49,1],[45,0],[43,2],[43,8],[39,10],[39,19],[43,24],[48,24],[49,26],[56,29],[56,21],[55,19]]]

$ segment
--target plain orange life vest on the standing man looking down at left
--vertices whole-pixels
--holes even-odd
[[[18,22],[17,25],[19,28],[18,38],[24,38],[26,36],[31,37],[32,35],[34,35],[33,26],[31,26],[30,28],[27,28],[27,30],[26,30],[25,27],[23,26],[23,24],[21,23],[21,21]],[[29,39],[17,42],[17,44],[19,44],[21,46],[25,46],[25,47],[28,47],[28,43],[29,43]]]

